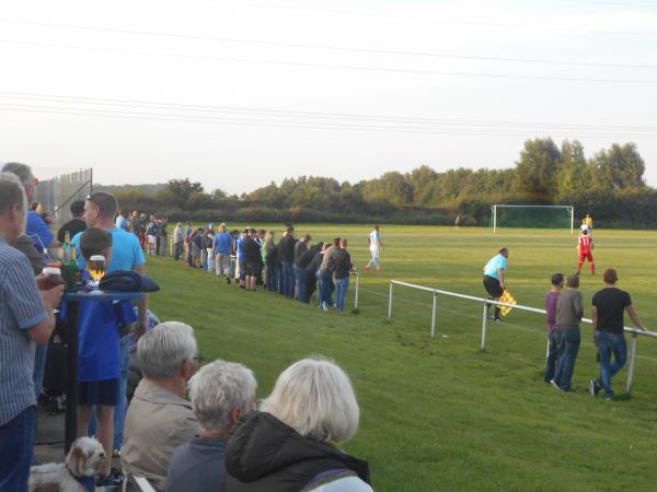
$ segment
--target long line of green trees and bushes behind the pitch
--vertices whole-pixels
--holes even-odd
[[[456,168],[420,166],[390,172],[356,184],[331,177],[286,178],[279,185],[241,196],[206,192],[200,183],[171,179],[164,186],[103,187],[126,210],[171,220],[275,222],[351,222],[487,225],[491,204],[573,204],[600,226],[657,225],[657,190],[644,180],[645,163],[634,143],[612,144],[591,157],[580,142],[552,139],[525,142],[514,167]]]

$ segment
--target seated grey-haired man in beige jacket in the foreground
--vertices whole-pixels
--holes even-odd
[[[143,379],[128,407],[122,465],[126,473],[148,479],[162,492],[173,452],[198,432],[185,399],[198,360],[192,327],[177,321],[158,325],[139,339],[137,358]]]

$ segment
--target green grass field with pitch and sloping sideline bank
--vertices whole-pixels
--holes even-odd
[[[280,229],[280,227],[277,227]],[[367,226],[298,225],[315,239],[346,236],[358,267],[368,260]],[[429,337],[431,295],[396,289],[391,279],[483,296],[482,267],[499,245],[510,250],[507,285],[521,304],[542,307],[550,276],[576,270],[567,231],[384,226],[381,274],[361,271],[360,315],[320,313],[264,292],[246,293],[212,276],[148,258],[162,292],[163,319],[192,325],[205,360],[253,368],[258,396],[292,361],[313,354],[347,370],[361,425],[346,449],[370,461],[377,491],[654,491],[657,485],[657,340],[641,339],[631,399],[593,399],[598,365],[590,326],[575,368],[575,391],[542,380],[543,316],[512,312],[493,325],[479,350],[481,305],[439,297]],[[657,327],[654,272],[657,233],[596,231],[599,277],[583,276],[585,315],[607,267],[619,271],[648,327]],[[361,268],[360,268],[361,270]],[[353,286],[353,285],[351,285]],[[353,302],[353,289],[349,293]],[[630,320],[626,319],[626,325]],[[614,378],[624,390],[626,367]]]

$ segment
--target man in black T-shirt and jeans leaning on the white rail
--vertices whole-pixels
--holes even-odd
[[[613,398],[611,378],[623,368],[627,360],[627,343],[625,342],[624,312],[627,312],[634,325],[647,331],[638,314],[632,305],[630,294],[615,286],[619,276],[613,268],[604,271],[602,277],[604,288],[593,295],[593,341],[600,350],[600,378],[589,382],[592,396],[598,396],[604,389],[607,398]],[[613,353],[614,362],[611,363]]]

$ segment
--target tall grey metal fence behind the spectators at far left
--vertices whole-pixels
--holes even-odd
[[[56,225],[71,219],[70,204],[84,200],[93,189],[93,169],[80,169],[39,181],[35,200],[53,213]]]

